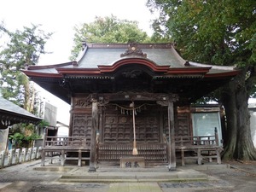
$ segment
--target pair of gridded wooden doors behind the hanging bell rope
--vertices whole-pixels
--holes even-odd
[[[135,117],[137,143],[160,143],[160,122],[158,112],[145,110]],[[131,113],[119,110],[105,110],[102,143],[132,143],[133,124]]]

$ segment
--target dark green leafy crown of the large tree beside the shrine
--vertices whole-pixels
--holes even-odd
[[[154,31],[172,37],[185,58],[241,66],[256,61],[255,4],[251,0],[148,0],[152,11],[160,9]]]

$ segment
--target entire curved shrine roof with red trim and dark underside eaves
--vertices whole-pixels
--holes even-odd
[[[71,102],[69,96],[72,93],[134,90],[139,84],[141,90],[147,86],[144,90],[177,92],[196,99],[239,73],[235,67],[185,61],[172,44],[84,44],[77,61],[29,66],[23,72],[67,103]],[[149,76],[143,76],[145,73]],[[125,74],[131,74],[131,77],[141,74],[141,81],[121,79],[130,84],[124,88],[119,78]]]

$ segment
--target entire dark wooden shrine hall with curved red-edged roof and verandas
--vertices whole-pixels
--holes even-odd
[[[201,163],[203,150],[220,162],[218,133],[212,127],[212,137],[193,137],[184,108],[235,77],[234,67],[185,61],[172,44],[84,43],[77,61],[23,73],[71,104],[69,137],[48,137],[43,146],[43,153],[60,151],[62,165],[77,158],[79,166],[90,160],[90,172],[96,164],[175,170],[177,152],[182,164],[188,151]]]

